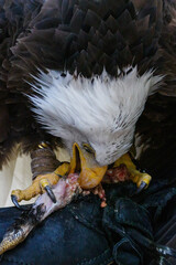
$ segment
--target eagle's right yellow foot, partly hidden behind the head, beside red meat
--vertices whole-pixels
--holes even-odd
[[[136,183],[139,192],[143,189],[146,189],[152,180],[152,177],[150,174],[140,172],[136,169],[129,153],[125,153],[119,158],[114,162],[113,168],[109,169],[107,172],[113,182],[131,179],[134,183]]]

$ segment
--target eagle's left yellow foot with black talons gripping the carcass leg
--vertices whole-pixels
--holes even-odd
[[[59,166],[54,172],[46,173],[46,174],[40,174],[37,176],[32,184],[28,187],[25,190],[13,190],[11,193],[12,202],[15,206],[19,209],[24,210],[25,208],[22,208],[19,205],[19,202],[22,200],[29,201],[32,198],[47,192],[51,200],[55,203],[56,199],[52,191],[52,187],[55,186],[59,178],[65,176],[69,171],[69,163],[65,162],[62,166]]]

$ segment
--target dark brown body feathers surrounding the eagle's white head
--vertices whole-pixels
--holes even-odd
[[[32,93],[26,81],[33,81],[38,67],[77,70],[86,77],[103,67],[112,76],[118,67],[123,74],[130,64],[138,65],[140,74],[154,67],[166,74],[163,94],[175,96],[175,51],[169,51],[175,42],[173,12],[164,12],[160,0],[0,0],[0,165],[15,142],[23,144],[23,151],[41,140],[53,147],[61,144],[35,121],[24,95]],[[165,104],[170,100],[153,98],[148,105],[154,107],[160,98]],[[150,138],[150,126],[156,121],[147,116],[147,106],[139,131]],[[162,109],[156,115],[161,112],[165,115]],[[167,116],[166,110],[169,123]]]

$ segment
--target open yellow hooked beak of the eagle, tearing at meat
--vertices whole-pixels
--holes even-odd
[[[99,167],[92,153],[81,150],[77,142],[73,146],[70,173],[80,172],[78,182],[82,189],[92,189],[98,186],[108,166]]]

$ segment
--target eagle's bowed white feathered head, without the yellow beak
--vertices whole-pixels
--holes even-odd
[[[33,85],[37,96],[31,97],[37,120],[69,151],[77,142],[94,150],[100,166],[112,163],[130,149],[136,120],[162,80],[152,72],[139,76],[136,67],[130,70],[118,78],[106,71],[91,78],[41,73]]]

